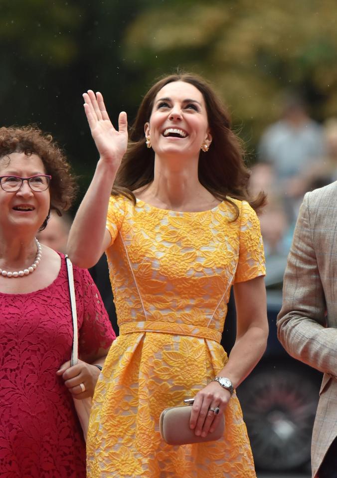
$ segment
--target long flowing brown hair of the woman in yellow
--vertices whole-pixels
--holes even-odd
[[[184,72],[162,77],[145,95],[130,129],[128,150],[118,170],[111,193],[123,194],[136,202],[132,191],[153,181],[155,152],[152,148],[148,149],[145,146],[144,125],[150,121],[158,92],[174,81],[184,81],[195,86],[205,101],[212,144],[207,153],[200,151],[198,164],[200,183],[217,199],[232,204],[235,209],[235,219],[238,217],[239,210],[230,197],[246,200],[253,209],[258,211],[264,206],[266,195],[263,192],[255,198],[249,195],[250,171],[243,160],[242,142],[231,130],[228,112],[206,80],[198,75]]]

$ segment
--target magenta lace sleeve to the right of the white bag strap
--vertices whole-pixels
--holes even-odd
[[[77,308],[79,324],[79,353],[90,355],[100,348],[108,349],[116,338],[107,311],[104,308],[100,293],[86,269],[74,267],[76,296],[81,291],[81,302]],[[76,287],[76,282],[81,282]]]

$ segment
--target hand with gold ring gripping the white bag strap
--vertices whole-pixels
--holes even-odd
[[[89,363],[79,360],[76,365],[70,366],[70,360],[63,363],[56,372],[62,376],[65,386],[74,398],[83,398],[94,395],[95,385],[99,376],[99,369]]]

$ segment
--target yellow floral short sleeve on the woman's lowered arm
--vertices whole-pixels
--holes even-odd
[[[266,274],[260,221],[246,201],[242,201],[239,220],[240,250],[234,283],[249,281]]]

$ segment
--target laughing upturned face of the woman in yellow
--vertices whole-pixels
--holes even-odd
[[[165,85],[156,95],[145,135],[156,155],[198,158],[201,145],[212,141],[202,93],[184,81]]]

